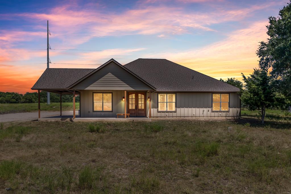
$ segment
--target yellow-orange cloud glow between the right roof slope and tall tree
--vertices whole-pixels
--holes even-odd
[[[144,57],[162,57],[217,79],[236,77],[241,80],[241,73],[249,75],[258,67],[255,52],[258,42],[267,39],[266,25],[267,21],[254,22],[246,29],[230,33],[228,38],[200,49]]]

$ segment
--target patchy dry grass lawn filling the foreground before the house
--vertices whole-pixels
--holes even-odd
[[[0,193],[291,192],[290,118],[5,123],[0,148]]]

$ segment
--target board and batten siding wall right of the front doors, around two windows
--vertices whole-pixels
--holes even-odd
[[[159,92],[162,94],[162,92]],[[174,92],[173,92],[174,93]],[[172,93],[172,94],[173,94]],[[170,93],[169,93],[170,94]],[[212,112],[212,93],[175,93],[176,112],[158,111],[158,93],[151,93],[152,117],[239,117],[240,98],[237,93],[230,93],[229,112]],[[149,93],[147,94],[147,97]],[[148,106],[147,106],[148,107]],[[147,109],[147,116],[149,110]]]

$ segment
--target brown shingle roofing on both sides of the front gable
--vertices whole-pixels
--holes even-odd
[[[166,59],[136,59],[124,67],[157,91],[239,92],[237,87]],[[31,89],[66,89],[93,70],[49,68]]]

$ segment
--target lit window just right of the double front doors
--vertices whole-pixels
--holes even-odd
[[[176,94],[158,94],[159,111],[176,111]]]

